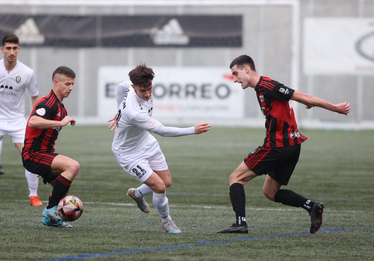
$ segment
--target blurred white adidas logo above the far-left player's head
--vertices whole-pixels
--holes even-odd
[[[23,44],[43,44],[44,35],[40,34],[38,27],[33,18],[27,19],[22,25],[14,31],[19,41]]]

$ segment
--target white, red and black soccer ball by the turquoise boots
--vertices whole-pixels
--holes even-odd
[[[65,221],[77,220],[83,213],[83,203],[76,196],[65,196],[58,203],[57,212]]]

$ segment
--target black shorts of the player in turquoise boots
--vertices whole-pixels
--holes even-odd
[[[57,153],[45,151],[29,151],[22,152],[22,162],[25,169],[29,172],[40,175],[43,177],[44,184],[50,183],[55,180],[59,174],[53,174],[51,165]]]

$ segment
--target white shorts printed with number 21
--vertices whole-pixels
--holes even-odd
[[[133,154],[113,152],[113,155],[126,172],[142,183],[151,176],[153,170],[169,169],[160,145],[153,136],[151,136],[147,145],[138,152]]]

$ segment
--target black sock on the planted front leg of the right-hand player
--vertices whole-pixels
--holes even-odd
[[[230,186],[230,199],[235,211],[236,224],[245,225],[245,192],[240,183],[234,183]]]

